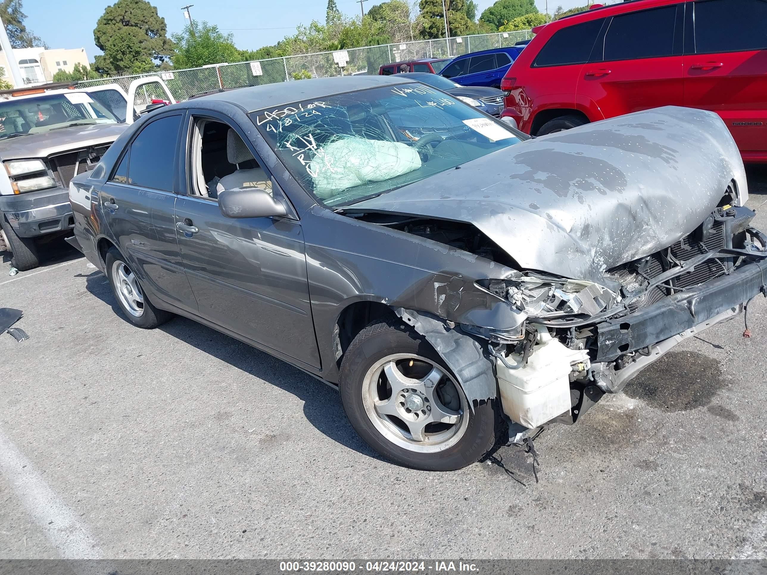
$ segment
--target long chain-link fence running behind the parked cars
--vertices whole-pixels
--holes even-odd
[[[531,38],[531,31],[495,32],[456,38],[420,40],[403,44],[383,44],[365,48],[350,48],[349,61],[344,68],[339,67],[333,58],[333,52],[316,54],[298,54],[285,58],[270,58],[236,64],[214,64],[187,70],[155,71],[150,74],[120,76],[87,80],[78,84],[81,87],[101,84],[119,84],[127,91],[130,82],[140,77],[162,76],[176,100],[188,100],[196,94],[220,90],[274,84],[301,80],[308,77],[348,76],[350,74],[378,74],[379,67],[390,62],[419,60],[421,58],[455,58],[469,52],[508,48],[516,42]],[[164,92],[151,84],[139,90],[137,105],[149,104],[153,98],[164,99]]]

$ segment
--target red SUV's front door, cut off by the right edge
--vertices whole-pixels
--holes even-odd
[[[690,12],[685,106],[719,113],[744,159],[767,155],[767,0],[692,2]]]

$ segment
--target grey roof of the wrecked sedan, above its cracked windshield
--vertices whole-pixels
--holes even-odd
[[[242,107],[245,110],[253,111],[266,107],[290,104],[298,100],[314,100],[316,98],[334,96],[335,94],[344,94],[345,92],[366,90],[367,88],[414,82],[414,80],[398,76],[400,74],[395,76],[371,75],[311,78],[308,80],[278,82],[276,84],[263,84],[262,86],[251,86],[209,94],[195,98],[193,102],[194,104],[199,104],[199,102],[206,100],[222,100]]]

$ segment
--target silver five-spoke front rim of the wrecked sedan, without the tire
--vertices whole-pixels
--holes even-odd
[[[408,376],[413,370],[427,373]],[[469,427],[469,403],[453,376],[412,353],[394,353],[374,363],[364,376],[362,403],[381,435],[412,452],[448,449]]]

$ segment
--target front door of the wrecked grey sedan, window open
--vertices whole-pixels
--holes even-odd
[[[202,173],[200,178],[204,160],[194,151],[199,145],[202,153],[205,144],[204,133],[196,129],[200,120],[235,130],[264,170],[272,193],[281,195],[235,121],[209,110],[192,110],[183,146],[187,193],[176,199],[176,234],[199,315],[263,347],[320,367],[301,222],[291,217],[227,218],[216,198],[200,193],[200,186],[207,187],[200,182],[209,177]],[[214,172],[225,173],[233,166],[226,167]]]

